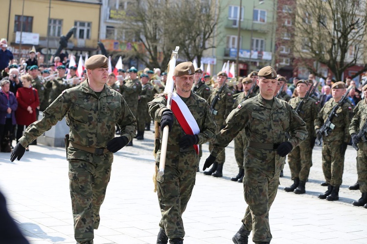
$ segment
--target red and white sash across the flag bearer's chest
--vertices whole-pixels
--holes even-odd
[[[199,125],[194,116],[192,116],[187,105],[176,92],[172,93],[171,110],[187,135],[196,135],[200,133]],[[199,146],[194,145],[194,149],[196,153],[199,154]]]

